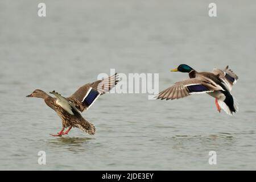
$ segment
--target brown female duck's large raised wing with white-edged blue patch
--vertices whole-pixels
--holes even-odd
[[[118,75],[115,73],[115,75],[108,78],[85,84],[76,90],[72,96],[68,97],[68,100],[82,112],[89,109],[100,95],[109,92],[109,90],[111,90],[118,81]]]

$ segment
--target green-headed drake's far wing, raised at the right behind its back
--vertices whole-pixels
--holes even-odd
[[[232,86],[236,84],[238,80],[238,76],[231,69],[229,69],[229,66],[226,66],[226,68],[223,70],[214,68],[212,73],[214,75],[219,75],[229,92],[232,90]]]

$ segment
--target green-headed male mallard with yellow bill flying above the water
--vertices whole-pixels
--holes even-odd
[[[222,108],[227,114],[232,115],[238,110],[238,104],[230,91],[236,84],[238,76],[228,68],[227,66],[223,70],[214,68],[212,72],[197,72],[188,65],[181,64],[171,71],[189,73],[190,79],[176,82],[170,88],[160,92],[157,98],[174,100],[194,93],[208,93],[215,98],[219,112]]]

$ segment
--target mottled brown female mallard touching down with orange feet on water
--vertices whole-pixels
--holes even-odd
[[[53,137],[61,137],[61,135],[68,134],[72,127],[78,127],[82,131],[94,135],[96,129],[92,123],[86,121],[80,111],[89,109],[98,96],[109,92],[118,82],[117,73],[108,78],[98,80],[89,84],[81,86],[70,97],[63,97],[54,90],[50,92],[55,97],[49,96],[43,90],[36,89],[33,93],[26,97],[38,97],[43,98],[44,102],[51,107],[59,115],[62,121],[62,129]],[[64,129],[68,127],[68,130],[64,132]]]

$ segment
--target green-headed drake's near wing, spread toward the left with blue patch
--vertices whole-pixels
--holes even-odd
[[[187,97],[194,93],[207,93],[220,89],[217,84],[207,78],[191,78],[176,82],[174,85],[160,92],[156,98],[160,98],[161,100],[174,100]]]

